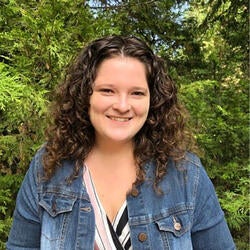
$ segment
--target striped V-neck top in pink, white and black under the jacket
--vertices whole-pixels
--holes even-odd
[[[110,222],[86,165],[84,166],[83,181],[95,213],[95,250],[132,250],[126,201],[114,221]]]

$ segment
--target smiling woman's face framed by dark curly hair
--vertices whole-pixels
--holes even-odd
[[[145,123],[150,93],[145,65],[132,57],[104,60],[90,96],[96,142],[130,142]]]

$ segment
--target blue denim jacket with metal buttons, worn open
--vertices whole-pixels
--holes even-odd
[[[64,161],[45,182],[43,152],[35,155],[19,190],[7,249],[94,249],[94,210],[82,172],[68,184],[74,162]],[[153,189],[154,163],[145,170],[146,181],[127,197],[134,250],[235,249],[214,187],[194,154],[178,164],[168,161],[161,195]]]

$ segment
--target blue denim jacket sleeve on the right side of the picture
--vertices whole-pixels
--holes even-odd
[[[193,248],[194,250],[236,249],[214,186],[202,166],[199,171],[192,227]]]

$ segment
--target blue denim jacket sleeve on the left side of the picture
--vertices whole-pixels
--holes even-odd
[[[7,242],[8,250],[40,249],[41,224],[37,193],[37,169],[41,164],[40,159],[41,151],[32,160],[19,189],[13,224]]]

